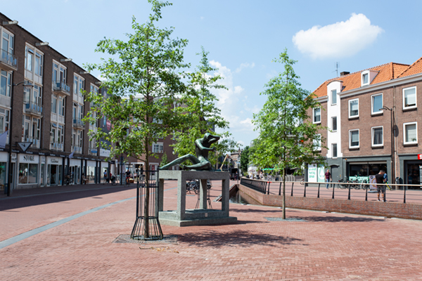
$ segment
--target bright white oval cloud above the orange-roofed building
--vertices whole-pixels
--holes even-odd
[[[383,31],[381,27],[371,25],[366,15],[352,13],[345,22],[300,30],[293,36],[293,43],[300,52],[314,59],[340,58],[363,50]]]

